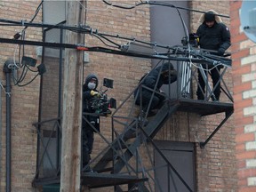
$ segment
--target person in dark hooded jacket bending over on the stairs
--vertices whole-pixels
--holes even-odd
[[[169,78],[170,77],[170,78]],[[140,84],[147,86],[148,88],[155,90],[156,92],[152,98],[151,105],[149,107],[148,115],[154,115],[155,113],[152,111],[155,108],[159,108],[162,102],[165,100],[165,96],[163,92],[160,90],[163,84],[172,84],[177,80],[177,71],[173,68],[172,63],[166,62],[153,70],[151,70],[148,74],[144,75],[140,79]],[[142,100],[140,100],[140,92],[142,96]],[[162,94],[159,94],[161,93]],[[147,111],[148,104],[151,100],[153,92],[148,90],[147,88],[138,88],[134,92],[135,104],[140,106],[142,105],[142,109],[144,112]]]

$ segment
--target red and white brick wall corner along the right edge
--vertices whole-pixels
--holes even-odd
[[[241,1],[230,3],[238,191],[256,190],[255,43],[240,28]]]

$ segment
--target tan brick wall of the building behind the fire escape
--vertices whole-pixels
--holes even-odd
[[[33,15],[31,10],[36,10],[38,4],[36,1],[10,2],[11,3],[7,1],[0,3],[1,18],[8,17],[13,20],[20,20],[20,18],[24,18],[24,15],[26,15],[26,19],[31,18],[30,16]],[[134,2],[136,1],[122,1],[122,3],[126,4],[134,4]],[[87,3],[86,24],[91,28],[97,28],[100,32],[109,34],[119,34],[129,37],[136,36],[140,40],[150,40],[148,6],[141,6],[132,10],[120,10],[102,4],[101,1],[88,1]],[[24,4],[26,4],[26,6],[23,6]],[[212,7],[220,13],[228,14],[229,12],[228,1],[220,1],[219,3],[211,1],[211,4],[210,1],[193,1],[191,7],[203,11],[211,9]],[[10,9],[12,9],[13,15],[10,14]],[[14,13],[13,10],[16,13]],[[24,12],[26,12],[26,14]],[[191,31],[195,31],[198,27],[199,24],[197,20],[199,16],[200,13],[191,12]],[[41,20],[39,16],[36,19],[38,19],[38,21]],[[224,21],[229,25],[229,20],[225,19]],[[4,37],[13,35],[12,30],[9,28],[1,28],[3,31],[6,31],[6,33],[1,32],[1,36],[2,34],[4,34]],[[14,30],[15,29],[16,28],[14,28]],[[40,39],[40,35],[39,29],[29,30],[30,39]],[[95,36],[85,36],[85,43],[89,46],[102,45]],[[124,44],[125,43],[127,42],[124,42]],[[8,47],[8,52],[6,52],[6,47]],[[12,44],[0,44],[1,63],[4,63],[8,57],[12,56],[14,47],[15,46]],[[34,49],[28,48],[28,50],[31,56],[36,57]],[[140,76],[148,72],[151,68],[150,60],[134,59],[100,52],[89,52],[89,55],[90,63],[85,64],[84,77],[89,73],[96,73],[100,77],[100,84],[102,83],[103,77],[112,78],[114,80],[114,89],[109,90],[108,95],[115,96],[117,106],[132,92],[136,84],[138,84]],[[236,60],[234,62],[238,63]],[[246,71],[246,68],[244,68],[244,71]],[[225,81],[228,81],[229,88],[232,87],[230,77],[229,73],[225,77]],[[1,79],[4,80],[4,74]],[[31,180],[35,176],[36,170],[36,132],[31,124],[37,120],[38,84],[38,79],[36,79],[36,82],[28,86],[21,88],[16,86],[12,87],[12,140],[13,142],[15,141],[12,149],[13,191],[33,191],[31,188]],[[250,86],[250,84],[246,85]],[[4,98],[2,100],[4,106]],[[25,118],[24,114],[28,114],[28,112],[31,116],[26,116]],[[240,111],[240,113],[242,113],[242,111]],[[222,118],[222,114],[201,118],[195,114],[177,113],[164,125],[164,129],[156,135],[156,139],[159,140],[196,142],[196,186],[197,191],[200,192],[236,191],[235,131],[232,119],[229,119],[228,123],[221,127],[220,131],[205,148],[199,148],[198,146],[198,142],[204,141],[214,128],[216,128]],[[248,118],[247,120],[250,119]],[[101,133],[110,140],[111,125],[109,118],[101,118],[100,129]],[[250,130],[250,127],[248,127],[247,130]],[[4,134],[3,132],[3,135]],[[4,137],[2,138],[4,149]],[[96,135],[93,156],[97,156],[97,153],[104,145],[105,144]],[[241,146],[241,148],[243,148],[243,146]],[[4,167],[4,157],[2,157],[2,167]],[[4,174],[5,170],[3,169],[1,173],[1,189],[3,190],[5,185]]]

